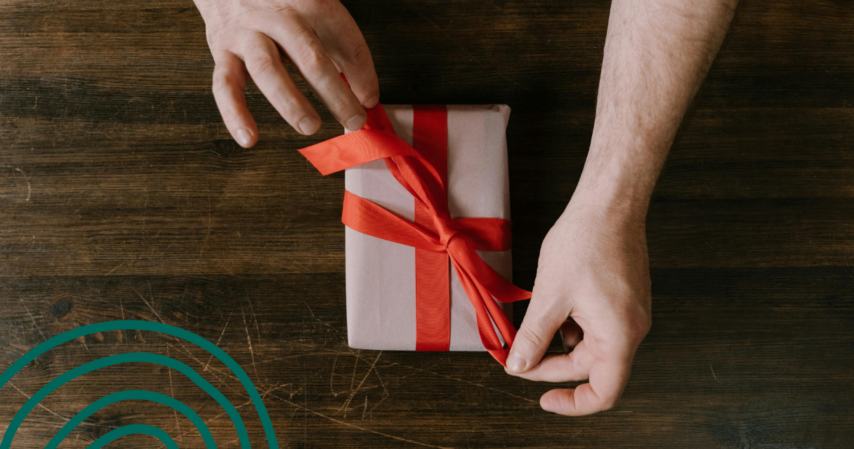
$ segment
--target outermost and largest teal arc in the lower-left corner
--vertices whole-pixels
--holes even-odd
[[[234,359],[231,359],[225,351],[219,349],[219,347],[210,341],[202,338],[202,336],[193,334],[189,330],[170,326],[169,324],[155,323],[153,321],[120,320],[88,324],[76,329],[68,330],[67,332],[63,332],[60,335],[50,338],[48,341],[44,341],[44,343],[39,344],[37,347],[33,347],[27,351],[26,354],[21,356],[20,359],[17,359],[14,364],[9,366],[9,368],[3,371],[3,374],[0,375],[0,388],[3,388],[3,386],[6,385],[6,382],[9,382],[9,379],[11,379],[12,376],[15,376],[18,371],[23,369],[26,364],[32,362],[32,360],[36,359],[39,355],[50,351],[50,349],[59,346],[66,341],[73,340],[83,335],[95,334],[97,332],[125,329],[151,330],[154,332],[160,332],[161,334],[176,336],[186,341],[190,341],[190,343],[193,343],[198,347],[202,347],[202,349],[211,353],[213,357],[219,359],[234,373],[235,376],[237,376],[237,380],[243,384],[243,388],[245,388],[246,393],[249,394],[249,399],[252,400],[252,404],[255,406],[255,411],[258,411],[258,417],[261,425],[264,427],[267,446],[269,446],[270,449],[278,449],[276,432],[272,429],[272,421],[270,421],[270,415],[266,411],[264,400],[261,399],[260,394],[258,394],[258,390],[255,389],[252,381],[249,380],[249,376],[246,374],[246,371],[244,371],[243,368],[234,361]]]

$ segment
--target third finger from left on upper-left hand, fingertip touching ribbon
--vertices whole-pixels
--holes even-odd
[[[278,18],[284,21],[284,26],[278,23],[278,26],[269,26],[266,32],[282,46],[315,95],[348,130],[364,126],[365,109],[341,78],[311,27],[294,9],[284,9]]]

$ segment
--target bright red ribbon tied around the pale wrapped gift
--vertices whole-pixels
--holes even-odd
[[[360,130],[305,149],[321,174],[339,172],[383,159],[389,171],[415,199],[415,222],[344,191],[342,222],[349,228],[415,248],[416,350],[447,351],[450,344],[448,260],[477,314],[483,347],[506,364],[516,329],[495,300],[527,300],[519,289],[487,265],[475,250],[506,251],[512,246],[506,219],[452,219],[447,209],[447,109],[414,106],[412,146],[395,134],[383,107],[368,109]],[[494,324],[494,325],[493,325]],[[501,344],[498,328],[504,341]]]

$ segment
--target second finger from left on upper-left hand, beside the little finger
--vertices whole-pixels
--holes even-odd
[[[244,49],[243,61],[246,61],[249,75],[278,114],[301,134],[317,131],[320,117],[290,79],[276,44],[260,32],[254,32]]]

